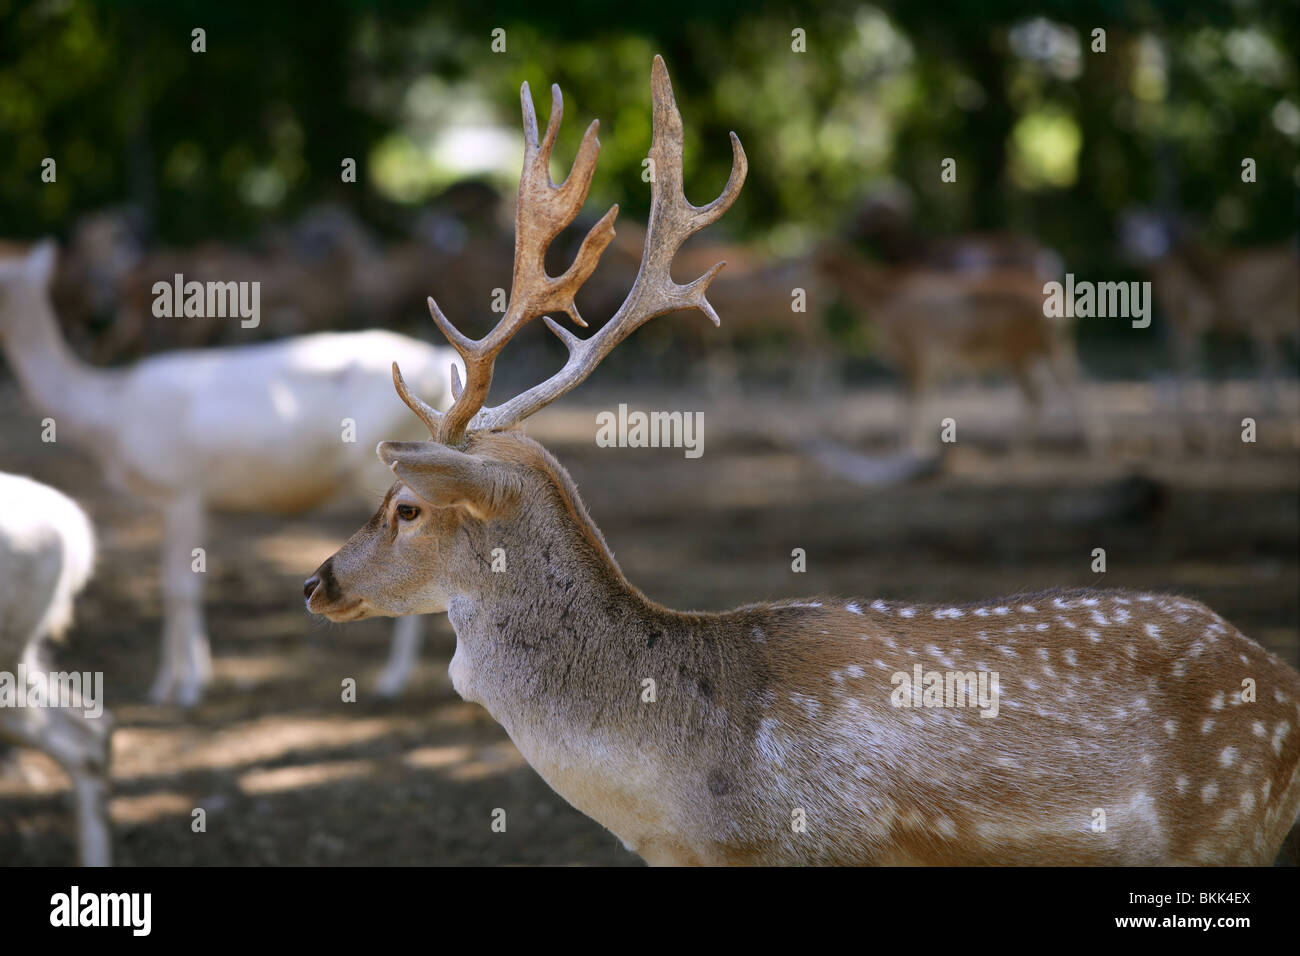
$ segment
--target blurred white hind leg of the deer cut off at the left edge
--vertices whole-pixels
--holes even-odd
[[[82,866],[109,866],[108,761],[112,718],[78,710],[22,708],[0,711],[0,740],[30,747],[58,761],[73,784],[77,851]]]

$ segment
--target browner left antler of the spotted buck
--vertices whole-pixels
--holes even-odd
[[[560,88],[551,86],[551,114],[546,124],[546,134],[541,140],[538,140],[537,113],[528,83],[520,87],[519,98],[524,116],[524,169],[519,177],[519,199],[515,209],[515,268],[506,315],[491,332],[476,341],[462,336],[442,315],[433,299],[429,299],[429,312],[434,324],[465,363],[465,381],[462,385],[459,380],[454,378],[455,402],[446,414],[439,416],[439,425],[433,431],[434,437],[447,445],[456,445],[462,441],[471,420],[482,408],[488,399],[488,390],[491,388],[497,355],[524,324],[547,312],[566,312],[578,325],[586,325],[582,316],[578,315],[573,297],[595,271],[601,255],[614,239],[614,220],[619,213],[618,206],[611,207],[592,226],[582,239],[573,263],[563,274],[552,277],[546,273],[546,250],[581,212],[586,194],[592,187],[595,161],[601,152],[601,143],[595,138],[599,122],[593,121],[588,126],[568,177],[556,185],[551,181],[550,161],[560,118],[564,114]],[[407,405],[411,402],[408,401]],[[421,402],[421,405],[424,403]],[[428,406],[424,407],[428,408]],[[425,419],[419,408],[415,411],[421,419]],[[428,419],[425,421],[428,424]]]

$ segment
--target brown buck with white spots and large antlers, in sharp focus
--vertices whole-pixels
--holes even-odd
[[[406,385],[428,442],[384,442],[396,475],[370,522],[306,583],[332,620],[446,610],[451,680],[576,808],[658,864],[1143,864],[1271,861],[1300,809],[1300,674],[1193,601],[1076,591],[982,605],[779,601],[680,613],[623,576],[564,470],[516,425],[573,389],[654,316],[697,308],[722,267],[679,285],[686,237],[736,199],[682,193],[681,118],[653,70],[649,235],[627,299],[554,377],[484,407],[497,355],[573,293],[616,208],[552,278],[547,243],[577,215],[593,122],[560,186],[528,86],[515,273],[480,341],[434,321],[465,363],[454,405]],[[504,548],[510,571],[490,570]],[[1001,676],[996,717],[901,704],[914,666]],[[642,702],[653,678],[658,701]],[[1248,680],[1252,692],[1243,692]],[[922,704],[928,701],[927,696]],[[1096,810],[1106,825],[1096,829]]]

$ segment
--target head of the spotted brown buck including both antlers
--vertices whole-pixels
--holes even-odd
[[[602,583],[629,587],[586,516],[572,481],[517,427],[586,378],[601,359],[650,319],[696,308],[719,324],[706,293],[725,263],[685,285],[675,282],[670,269],[682,242],[716,221],[736,200],[748,169],[745,152],[732,133],[732,170],[722,195],[707,206],[693,206],[682,193],[681,116],[658,56],[651,91],[653,179],[641,268],[614,316],[590,337],[578,338],[547,313],[564,312],[586,326],[573,297],[614,238],[618,206],[590,229],[563,274],[546,273],[547,247],[578,215],[592,185],[601,148],[595,138],[598,122],[588,127],[568,178],[556,185],[549,169],[563,113],[559,87],[551,87],[550,121],[545,135],[538,137],[532,95],[528,83],[523,85],[524,169],[506,313],[490,333],[474,341],[458,332],[429,299],[434,323],[464,359],[465,380],[452,371],[455,402],[438,412],[407,388],[394,363],[398,394],[429,428],[432,440],[378,446],[380,458],[391,467],[396,481],[369,523],[306,581],[312,613],[332,620],[356,620],[443,611],[458,594],[474,594],[486,581],[497,589],[519,587],[519,600],[526,601],[529,583],[545,580],[549,570],[555,578],[552,555],[563,555],[559,561],[568,588]],[[485,407],[497,356],[526,323],[538,317],[568,349],[563,368],[503,405]],[[495,549],[511,562],[511,574],[491,574]]]

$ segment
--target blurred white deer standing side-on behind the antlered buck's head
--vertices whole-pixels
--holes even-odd
[[[377,398],[377,385],[389,381],[387,356],[411,355],[413,377],[436,403],[450,402],[447,368],[459,359],[450,349],[370,329],[96,368],[60,332],[49,299],[56,259],[53,241],[44,241],[0,260],[0,346],[27,399],[51,419],[55,440],[81,446],[110,486],[161,514],[162,653],[150,698],[190,708],[212,678],[195,564],[208,512],[294,514],[369,494],[370,470],[382,479],[360,451],[369,436],[419,433],[400,405]],[[350,428],[365,445],[352,441]],[[396,623],[377,685],[382,696],[407,684],[420,641],[417,618]]]

